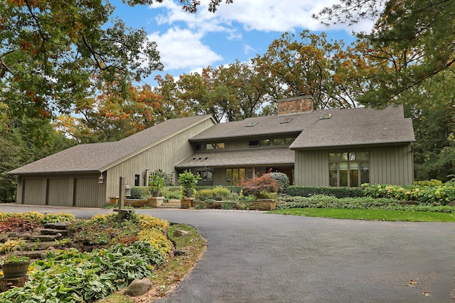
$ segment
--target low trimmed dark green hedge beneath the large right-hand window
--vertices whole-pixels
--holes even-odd
[[[309,187],[291,185],[286,189],[286,194],[291,197],[311,197],[316,194],[323,194],[336,198],[358,198],[363,197],[363,190],[359,187]]]

